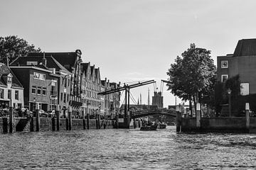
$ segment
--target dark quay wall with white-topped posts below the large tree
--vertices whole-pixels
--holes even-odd
[[[200,103],[196,108],[196,118],[182,118],[180,109],[176,108],[176,132],[256,133],[256,118],[250,117],[249,103],[245,104],[245,117],[201,118]]]

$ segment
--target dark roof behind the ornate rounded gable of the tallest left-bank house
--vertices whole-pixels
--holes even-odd
[[[72,71],[72,67],[75,66],[77,57],[80,56],[77,52],[45,52],[45,55],[52,56],[69,71]],[[28,53],[28,56],[43,56],[43,52],[31,52]]]

